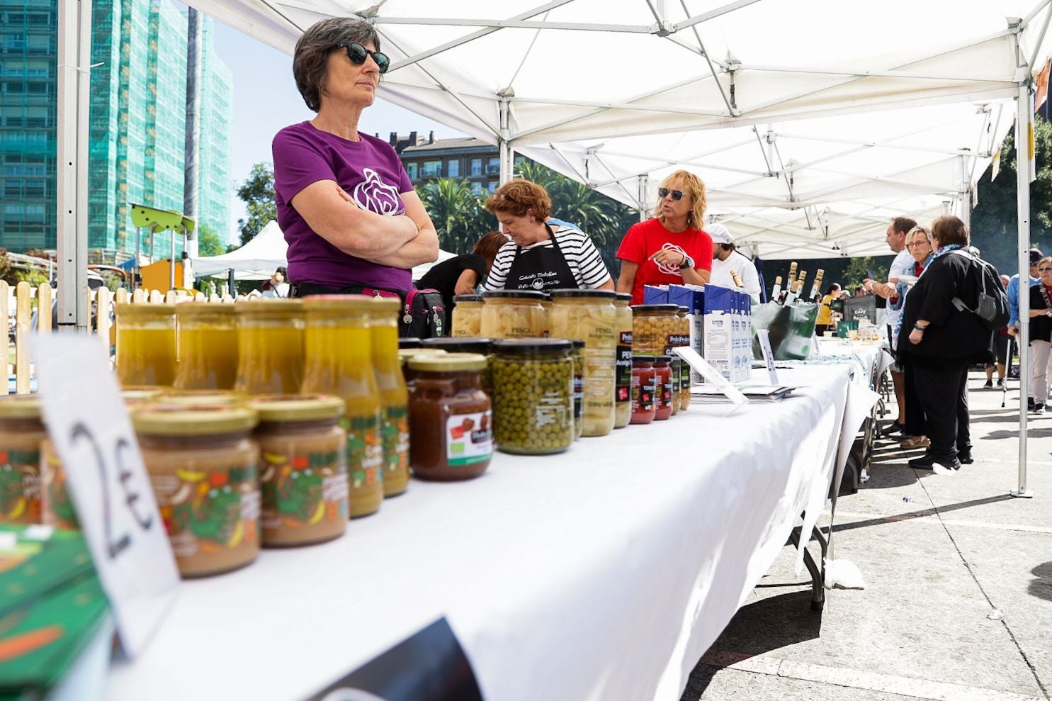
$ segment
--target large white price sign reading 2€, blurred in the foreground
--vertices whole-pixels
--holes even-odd
[[[103,341],[34,336],[47,433],[128,657],[171,604],[179,572]]]

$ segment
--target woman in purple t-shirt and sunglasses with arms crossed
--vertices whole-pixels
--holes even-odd
[[[391,146],[359,134],[389,65],[368,22],[332,18],[296,43],[292,74],[308,122],[274,138],[278,224],[288,241],[294,295],[412,288],[410,269],[433,261],[439,237]]]

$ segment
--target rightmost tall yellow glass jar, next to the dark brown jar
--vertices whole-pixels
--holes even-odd
[[[372,373],[380,390],[380,438],[384,448],[381,481],[384,497],[397,497],[409,486],[409,390],[398,359],[399,301],[373,297],[369,311]]]

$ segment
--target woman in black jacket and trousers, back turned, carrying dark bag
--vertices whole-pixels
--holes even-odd
[[[990,354],[990,332],[979,318],[958,309],[953,298],[975,308],[977,259],[968,245],[968,227],[956,217],[939,217],[931,227],[935,258],[906,297],[898,353],[913,368],[917,397],[928,417],[931,445],[910,467],[946,474],[972,459],[968,427],[968,367]],[[909,333],[907,334],[907,329]]]

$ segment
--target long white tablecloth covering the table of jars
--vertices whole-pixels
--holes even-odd
[[[499,454],[469,482],[412,482],[338,541],[184,582],[107,698],[302,699],[446,616],[488,700],[675,701],[801,513],[824,508],[848,368],[781,373],[807,386]]]

